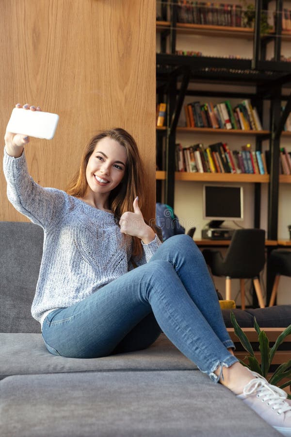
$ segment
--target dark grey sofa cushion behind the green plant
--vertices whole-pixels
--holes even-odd
[[[246,310],[222,310],[226,328],[232,328],[231,311],[241,328],[253,328],[254,317],[260,328],[286,328],[291,324],[291,305],[276,305],[267,308],[248,308]]]

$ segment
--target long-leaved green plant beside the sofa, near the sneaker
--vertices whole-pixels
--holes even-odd
[[[272,360],[275,356],[275,352],[281,343],[283,343],[284,338],[291,334],[291,325],[289,325],[276,339],[274,346],[270,347],[269,339],[266,333],[259,328],[257,320],[254,320],[254,328],[258,334],[258,342],[259,342],[259,351],[261,357],[261,363],[259,363],[258,359],[255,357],[254,350],[252,348],[251,343],[249,342],[247,336],[242,331],[242,328],[239,326],[234,313],[231,311],[230,313],[231,323],[234,327],[234,333],[239,338],[242,347],[249,353],[245,357],[248,359],[248,364],[244,363],[240,360],[243,366],[248,367],[250,370],[255,371],[262,375],[264,378],[268,380],[270,384],[277,386],[279,388],[285,388],[291,385],[291,360],[287,363],[283,363],[277,367],[272,376],[268,379],[268,373],[270,370],[270,366],[272,364]],[[288,378],[288,381],[282,383],[282,379]],[[281,384],[280,384],[281,381]],[[291,399],[291,395],[288,395],[288,398]]]

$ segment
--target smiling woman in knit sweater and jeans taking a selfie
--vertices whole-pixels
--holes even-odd
[[[176,235],[161,245],[146,224],[143,166],[131,135],[123,129],[96,135],[67,192],[32,180],[23,153],[28,142],[6,132],[4,172],[9,200],[44,229],[32,316],[49,352],[76,358],[129,352],[148,347],[162,330],[213,381],[291,436],[286,393],[234,356],[192,238]]]

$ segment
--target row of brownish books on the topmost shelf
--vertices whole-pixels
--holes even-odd
[[[242,6],[240,4],[179,0],[177,21],[179,23],[242,27]]]

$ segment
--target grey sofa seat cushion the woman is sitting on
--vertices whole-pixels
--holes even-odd
[[[0,333],[0,379],[9,375],[120,369],[196,369],[164,334],[149,348],[103,358],[65,358],[49,353],[41,334]]]

